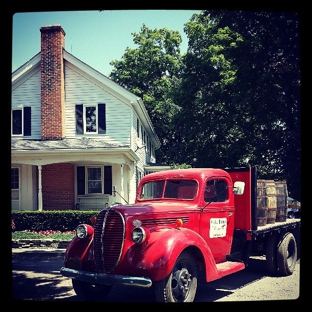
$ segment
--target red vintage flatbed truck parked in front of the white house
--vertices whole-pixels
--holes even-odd
[[[151,287],[158,302],[192,302],[199,271],[206,282],[266,256],[271,274],[288,276],[299,258],[300,219],[258,225],[255,167],[190,168],[151,173],[134,204],[117,204],[80,224],[63,276],[86,301],[114,285]]]

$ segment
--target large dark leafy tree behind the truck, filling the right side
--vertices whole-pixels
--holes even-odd
[[[300,66],[296,14],[202,11],[185,26],[189,48],[175,123],[199,166],[256,165],[300,199]]]

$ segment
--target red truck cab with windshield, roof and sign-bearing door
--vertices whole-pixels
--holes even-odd
[[[159,216],[170,208],[176,219],[185,219],[183,228],[194,231],[205,241],[216,263],[226,260],[231,250],[235,214],[228,173],[181,169],[151,174],[143,178],[138,188],[136,204],[143,203],[159,207]]]

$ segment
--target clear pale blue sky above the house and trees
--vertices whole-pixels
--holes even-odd
[[[60,24],[65,49],[100,73],[109,75],[112,60],[121,60],[127,47],[136,47],[131,33],[143,24],[168,28],[182,36],[181,53],[187,49],[183,27],[200,10],[103,10],[21,12],[12,16],[12,72],[40,52],[40,28]]]

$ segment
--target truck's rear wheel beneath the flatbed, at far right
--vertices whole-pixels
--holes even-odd
[[[277,246],[277,265],[282,276],[293,274],[297,262],[297,243],[294,235],[287,232],[281,235]]]

